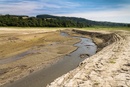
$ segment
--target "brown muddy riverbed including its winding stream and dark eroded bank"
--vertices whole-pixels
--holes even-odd
[[[28,31],[25,30],[21,34],[19,30],[15,33],[8,29],[0,31],[0,60],[6,61],[0,65],[1,87],[46,86],[115,41],[110,32],[58,30],[44,33],[41,30],[37,33],[37,30],[29,30],[25,34]]]

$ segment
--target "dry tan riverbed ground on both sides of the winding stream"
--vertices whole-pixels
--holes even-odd
[[[48,87],[129,87],[130,32],[65,30],[72,36],[91,38],[97,53]],[[14,82],[41,68],[56,63],[60,56],[77,48],[79,39],[60,36],[50,30],[0,30],[0,60],[31,50],[24,58],[0,65],[0,85]],[[51,55],[50,55],[51,54]]]

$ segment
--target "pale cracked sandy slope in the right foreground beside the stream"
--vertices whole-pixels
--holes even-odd
[[[130,87],[130,32],[114,33],[114,43],[48,87]]]

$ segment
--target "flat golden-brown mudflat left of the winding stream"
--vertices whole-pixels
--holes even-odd
[[[0,61],[30,51],[19,60],[0,64],[0,85],[14,82],[59,60],[77,48],[79,39],[44,29],[0,29]]]

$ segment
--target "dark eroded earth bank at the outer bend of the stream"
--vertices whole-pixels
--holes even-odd
[[[115,33],[110,32],[100,33],[100,32],[92,32],[92,31],[89,32],[82,30],[72,30],[72,31],[82,35],[87,35],[89,38],[91,38],[98,47],[97,52],[99,52],[104,47],[112,44],[115,41],[114,36],[116,36]]]

